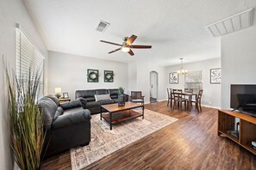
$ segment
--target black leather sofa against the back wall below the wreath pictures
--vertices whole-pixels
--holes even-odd
[[[95,96],[100,94],[109,94],[107,100],[96,100]],[[80,100],[84,109],[89,109],[91,114],[101,112],[101,106],[118,102],[118,88],[113,89],[88,89],[77,90],[76,99]],[[125,100],[128,101],[128,95],[125,94]]]

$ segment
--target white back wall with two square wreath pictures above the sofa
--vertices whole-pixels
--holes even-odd
[[[87,69],[99,70],[99,82],[87,82]],[[114,71],[114,82],[104,82],[104,70]],[[74,99],[78,89],[118,88],[128,91],[128,64],[97,58],[75,56],[60,52],[49,52],[49,88],[61,88]]]

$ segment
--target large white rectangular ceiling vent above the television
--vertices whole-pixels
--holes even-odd
[[[239,14],[229,16],[221,21],[206,26],[214,37],[222,36],[228,33],[234,33],[243,28],[253,25],[253,9],[247,9]]]

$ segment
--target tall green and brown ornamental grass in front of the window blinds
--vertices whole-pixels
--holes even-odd
[[[45,138],[43,120],[35,104],[40,89],[41,71],[29,69],[28,75],[18,79],[9,75],[6,67],[9,94],[10,146],[16,164],[23,170],[39,169]]]

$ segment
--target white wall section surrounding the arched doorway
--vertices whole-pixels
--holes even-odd
[[[129,63],[129,73],[134,76],[129,76],[129,94],[130,91],[142,91],[142,95],[145,95],[145,102],[148,103],[150,99],[150,72],[156,71],[159,74],[159,88],[158,88],[158,100],[165,100],[165,67],[159,66],[148,61],[136,61]],[[134,80],[134,77],[136,79]]]

